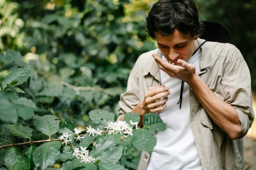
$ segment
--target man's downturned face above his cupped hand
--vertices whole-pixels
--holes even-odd
[[[162,36],[156,32],[155,35],[158,48],[162,51],[163,56],[168,62],[174,63],[174,65],[178,65],[178,59],[187,62],[198,48],[196,41],[198,36],[192,37],[191,35],[185,35],[178,29],[175,29],[174,32],[168,36]]]

